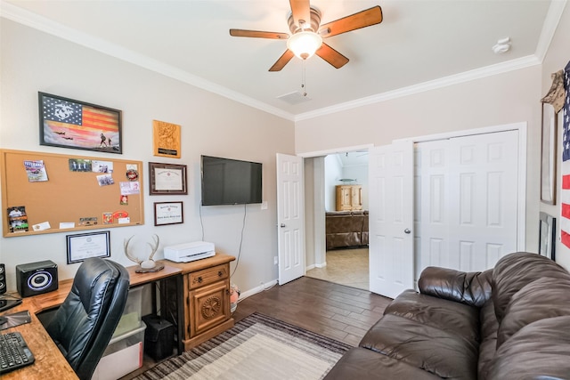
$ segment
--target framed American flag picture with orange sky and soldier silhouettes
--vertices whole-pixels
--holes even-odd
[[[37,94],[40,145],[123,153],[121,110],[51,93]]]

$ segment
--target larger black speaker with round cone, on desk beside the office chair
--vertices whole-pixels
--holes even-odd
[[[51,260],[16,265],[16,286],[22,297],[57,290],[57,264]]]

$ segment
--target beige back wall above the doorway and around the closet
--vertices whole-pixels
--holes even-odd
[[[527,123],[526,249],[537,251],[541,68],[534,66],[297,122],[297,154]],[[316,138],[316,136],[321,136]]]

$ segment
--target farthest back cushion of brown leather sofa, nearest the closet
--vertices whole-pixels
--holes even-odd
[[[526,284],[542,278],[566,279],[568,272],[545,256],[517,252],[501,258],[493,270],[493,303],[501,322],[510,299]]]

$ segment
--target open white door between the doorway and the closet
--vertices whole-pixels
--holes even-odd
[[[369,153],[370,288],[395,298],[413,287],[413,143]]]

